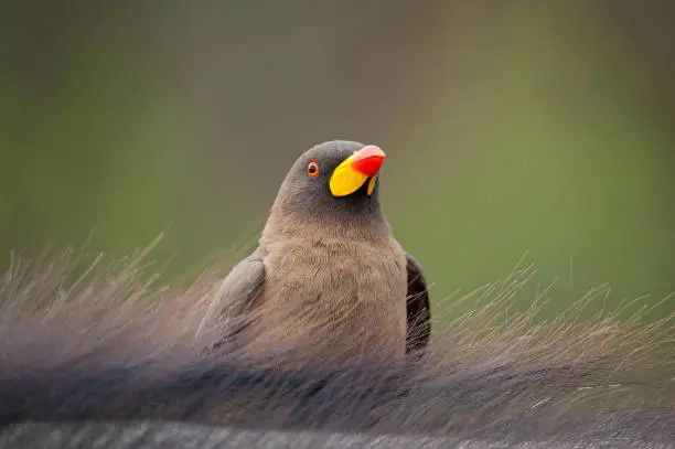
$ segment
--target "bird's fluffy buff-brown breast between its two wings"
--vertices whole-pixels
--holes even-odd
[[[407,271],[396,242],[287,243],[269,248],[265,265],[266,302],[285,311],[288,332],[311,329],[343,349],[404,354]]]

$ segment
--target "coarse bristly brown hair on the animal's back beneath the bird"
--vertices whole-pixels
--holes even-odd
[[[604,289],[555,320],[536,319],[535,301],[506,324],[506,309],[534,272],[516,269],[468,295],[475,309],[437,329],[424,357],[368,362],[364,353],[338,366],[330,351],[340,349],[313,332],[279,341],[271,357],[256,355],[256,344],[276,344],[269,340],[207,351],[237,325],[224,319],[200,329],[214,321],[204,316],[223,274],[210,269],[186,286],[158,287],[147,257],[97,258],[76,276],[72,252],[12,259],[0,284],[3,431],[22,423],[150,420],[264,430],[255,435],[398,435],[409,438],[405,447],[430,437],[673,442],[674,314],[649,324],[618,312],[581,319]],[[288,367],[310,349],[326,351],[322,366]]]

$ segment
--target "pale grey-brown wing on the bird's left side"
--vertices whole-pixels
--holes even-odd
[[[225,277],[208,306],[197,334],[214,319],[236,320],[255,307],[265,282],[265,265],[255,253],[239,261]]]

